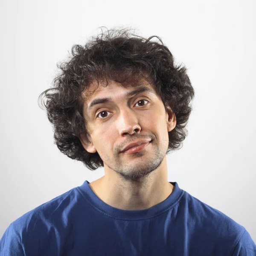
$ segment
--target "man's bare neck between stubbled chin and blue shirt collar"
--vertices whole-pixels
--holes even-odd
[[[153,207],[166,200],[174,189],[174,186],[167,180],[166,158],[161,168],[152,172],[143,184],[124,182],[117,175],[105,173],[103,177],[91,182],[89,186],[103,202],[123,210],[142,210]]]

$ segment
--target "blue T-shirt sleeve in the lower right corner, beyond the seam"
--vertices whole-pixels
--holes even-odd
[[[256,244],[247,230],[244,230],[232,256],[256,256]]]

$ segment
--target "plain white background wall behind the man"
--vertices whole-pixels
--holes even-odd
[[[195,88],[188,137],[167,155],[168,180],[256,241],[255,7],[253,0],[2,0],[0,237],[24,213],[104,175],[58,150],[38,96],[73,44],[100,26],[128,26],[160,36]]]

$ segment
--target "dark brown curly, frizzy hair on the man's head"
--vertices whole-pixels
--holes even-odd
[[[165,110],[169,105],[176,116],[176,126],[169,131],[167,153],[183,146],[192,111],[189,104],[195,91],[186,67],[174,64],[172,53],[160,37],[143,38],[127,28],[107,29],[91,37],[84,46],[73,45],[69,58],[57,64],[60,73],[53,79],[54,86],[38,98],[47,98],[44,107],[54,128],[54,143],[62,153],[90,170],[104,166],[98,152],[89,153],[79,140],[81,133],[90,136],[83,117],[83,92],[93,81],[98,81],[98,85],[101,81],[117,81],[127,87],[137,86],[136,81],[142,77],[154,85]]]

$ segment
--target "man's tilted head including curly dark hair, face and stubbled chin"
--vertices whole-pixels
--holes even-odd
[[[47,98],[61,152],[90,170],[104,166],[135,179],[182,146],[194,89],[186,68],[174,64],[159,37],[152,38],[113,29],[72,47],[70,60],[58,65],[54,87],[39,96]],[[132,93],[137,89],[142,90]],[[109,102],[90,108],[103,97]],[[144,139],[151,142],[142,151],[121,152]],[[131,174],[136,167],[140,172]]]

